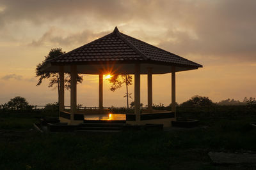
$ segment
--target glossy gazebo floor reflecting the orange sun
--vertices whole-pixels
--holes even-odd
[[[126,120],[125,114],[84,115],[84,120]]]

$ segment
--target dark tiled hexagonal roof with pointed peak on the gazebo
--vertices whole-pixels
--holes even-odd
[[[127,36],[119,32],[117,27],[110,34],[51,60],[54,65],[104,61],[164,62],[165,64],[202,67],[179,55]]]

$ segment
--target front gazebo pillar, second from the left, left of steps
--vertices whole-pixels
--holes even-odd
[[[70,66],[71,70],[71,82],[70,82],[70,122],[74,121],[74,114],[76,113],[76,77],[77,68],[76,65]]]

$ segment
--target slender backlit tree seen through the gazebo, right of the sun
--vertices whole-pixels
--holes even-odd
[[[132,85],[132,76],[129,74],[115,74],[111,78],[109,78],[109,82],[112,83],[110,90],[112,92],[115,92],[116,89],[119,89],[122,87],[122,85],[125,84],[126,86],[126,101],[127,101],[127,109],[129,109],[129,98],[132,99],[131,93],[128,92],[128,86]]]

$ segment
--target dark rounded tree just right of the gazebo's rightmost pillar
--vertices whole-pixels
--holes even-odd
[[[180,106],[211,106],[213,103],[209,97],[193,96],[188,101],[180,104]]]

